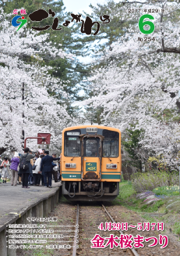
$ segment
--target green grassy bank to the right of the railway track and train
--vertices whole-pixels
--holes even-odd
[[[161,197],[161,200],[151,204],[145,204],[144,199],[136,198],[136,190],[132,186],[132,182],[123,181],[119,186],[119,196],[112,204],[119,204],[129,210],[136,211],[146,222],[164,222],[165,230],[171,229],[171,232],[179,236],[180,240],[180,195],[178,186],[157,186],[153,191],[157,197]],[[155,213],[154,217],[151,216],[152,213]],[[128,215],[127,218],[129,218]]]

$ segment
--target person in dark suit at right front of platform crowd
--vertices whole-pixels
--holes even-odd
[[[44,175],[44,187],[49,187],[51,188],[51,179],[52,179],[52,161],[53,160],[59,160],[60,157],[50,157],[49,151],[45,151],[44,155],[45,157],[42,158],[41,160],[41,171],[42,174]],[[47,178],[48,178],[48,184],[47,184]]]

